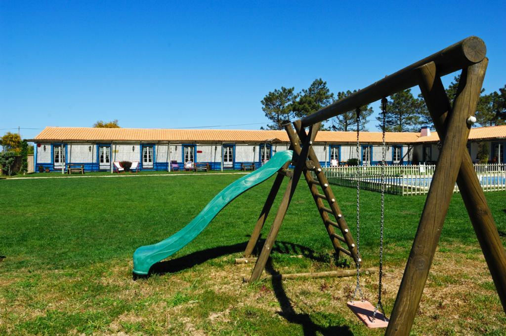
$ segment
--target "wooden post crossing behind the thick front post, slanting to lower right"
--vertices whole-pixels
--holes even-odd
[[[486,62],[486,59],[483,62]],[[444,134],[451,105],[436,73],[436,65],[433,62],[420,67],[419,85],[438,134]],[[506,252],[468,151],[463,153],[457,185],[494,280],[502,308],[506,312]]]

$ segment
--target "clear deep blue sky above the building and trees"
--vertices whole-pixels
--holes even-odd
[[[470,35],[487,44],[484,87],[497,90],[506,84],[504,13],[504,1],[4,0],[0,133],[99,119],[258,129],[270,90],[319,77],[334,93],[362,88]]]

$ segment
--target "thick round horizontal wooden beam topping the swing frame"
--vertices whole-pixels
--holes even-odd
[[[485,58],[486,52],[487,48],[481,38],[476,36],[465,38],[303,118],[302,126],[322,122],[388,97],[395,92],[418,85],[415,72],[418,67],[424,64],[434,62],[438,67],[439,75],[444,76],[481,62]]]

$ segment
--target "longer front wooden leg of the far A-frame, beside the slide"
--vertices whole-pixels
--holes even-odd
[[[320,128],[320,123],[317,123],[313,125],[310,128],[310,136],[307,137],[306,141],[304,142],[303,150],[301,155],[297,159],[297,164],[293,170],[293,177],[290,178],[288,181],[288,185],[286,186],[286,191],[283,195],[283,199],[281,200],[281,203],[278,208],[278,212],[276,213],[276,217],[274,217],[274,221],[271,226],[271,230],[269,231],[269,234],[267,235],[267,238],[264,243],[264,247],[262,248],[262,252],[260,253],[260,256],[257,259],[257,263],[255,264],[255,268],[253,270],[253,273],[251,274],[251,278],[249,281],[256,281],[260,278],[262,275],[262,272],[265,269],[265,264],[267,263],[267,259],[269,258],[269,255],[271,254],[272,247],[274,245],[274,242],[276,241],[276,237],[279,232],[279,228],[281,227],[281,223],[283,222],[284,216],[286,214],[286,210],[288,210],[288,206],[290,205],[291,198],[293,197],[293,193],[295,192],[295,189],[297,188],[297,183],[299,182],[299,179],[301,178],[302,171],[306,164],[306,159],[308,156],[308,149],[310,148],[309,142],[311,138],[311,133],[313,131],[317,132]],[[288,131],[288,129],[292,129],[290,124],[285,125],[285,129]],[[293,131],[293,129],[292,129]]]

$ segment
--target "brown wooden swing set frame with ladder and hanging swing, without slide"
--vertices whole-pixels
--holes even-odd
[[[283,218],[302,175],[306,179],[335,252],[338,256],[342,254],[350,256],[356,264],[357,289],[355,290],[355,296],[357,291],[361,294],[359,281],[362,261],[359,252],[359,178],[357,179],[357,242],[355,242],[345,216],[341,212],[312,148],[312,143],[322,121],[356,110],[357,122],[359,122],[360,110],[358,107],[378,100],[382,100],[383,116],[385,116],[386,97],[418,85],[434,121],[442,147],[390,321],[382,314],[384,312],[381,303],[384,190],[382,192],[378,303],[374,308],[363,298],[362,300],[355,300],[354,298],[354,301],[349,302],[348,306],[370,327],[385,327],[388,325],[387,335],[409,334],[429,275],[429,269],[436,252],[456,182],[492,275],[502,307],[506,312],[506,253],[473,168],[471,157],[466,150],[470,128],[476,122],[474,115],[488,64],[485,54],[486,46],[483,40],[475,36],[468,37],[359,90],[345,99],[293,122],[295,129],[291,124],[285,125],[290,140],[290,149],[293,151],[293,158],[290,163],[285,164],[279,170],[274,180],[257,224],[251,233],[244,252],[245,258],[250,257],[255,249],[283,178],[288,177],[289,180],[249,280],[258,280],[262,275]],[[458,70],[461,70],[460,80],[455,100],[451,104],[441,82],[441,76]],[[359,129],[358,126],[357,129]],[[306,128],[308,128],[308,131],[306,131]],[[383,131],[383,163],[385,163],[385,123]],[[357,148],[358,145],[359,133],[357,131]],[[288,170],[289,164],[294,167],[293,170]],[[358,171],[359,169],[357,169]],[[316,176],[316,179],[313,176]],[[328,206],[325,205],[324,201]],[[350,272],[343,271],[342,275],[350,275]],[[381,309],[381,312],[379,309]]]

